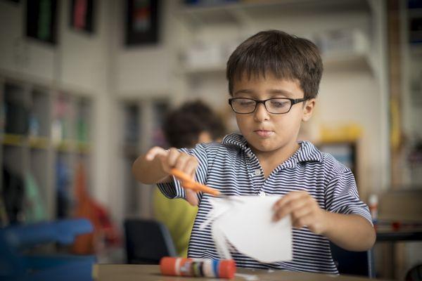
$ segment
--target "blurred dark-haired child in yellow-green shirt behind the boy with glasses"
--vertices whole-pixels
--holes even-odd
[[[165,117],[162,129],[167,143],[174,148],[221,141],[225,131],[222,120],[200,100],[172,110]],[[158,188],[154,190],[153,206],[155,218],[170,230],[177,254],[186,257],[198,207],[183,199],[170,200]]]

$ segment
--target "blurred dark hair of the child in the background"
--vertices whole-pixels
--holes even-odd
[[[203,132],[210,133],[213,140],[222,138],[226,132],[222,119],[200,100],[169,112],[162,129],[167,143],[174,148],[191,148]]]

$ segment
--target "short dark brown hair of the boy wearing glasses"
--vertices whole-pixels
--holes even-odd
[[[315,98],[322,76],[319,50],[312,41],[279,30],[258,32],[243,41],[227,61],[226,78],[233,96],[236,79],[269,71],[279,79],[298,79],[305,98]]]

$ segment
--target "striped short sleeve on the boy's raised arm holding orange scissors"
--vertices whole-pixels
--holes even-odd
[[[196,169],[195,180],[199,183],[205,184],[207,181],[207,151],[205,149],[205,145],[198,144],[195,148],[181,148],[179,149],[180,152],[187,153],[188,155],[192,155],[198,159],[198,168]],[[181,187],[181,182],[178,181],[176,178],[172,177],[173,181],[170,183],[158,183],[158,188],[162,192],[165,197],[173,199],[173,198],[184,198],[186,199],[186,194],[184,188]],[[197,193],[198,200],[202,199],[203,193]]]

